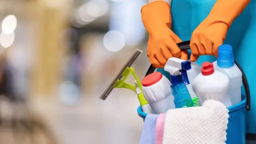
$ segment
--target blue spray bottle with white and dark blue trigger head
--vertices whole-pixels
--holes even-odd
[[[164,70],[171,74],[171,89],[176,108],[194,106],[185,85],[185,83],[189,84],[187,76],[187,70],[189,69],[191,69],[191,62],[176,57],[169,58],[164,66]]]

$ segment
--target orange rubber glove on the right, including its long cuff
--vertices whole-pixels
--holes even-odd
[[[208,17],[192,33],[192,62],[200,55],[214,54],[218,57],[218,47],[225,40],[229,27],[249,2],[250,0],[217,0]]]

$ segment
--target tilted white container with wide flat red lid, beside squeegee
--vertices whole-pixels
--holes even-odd
[[[154,114],[166,113],[174,109],[171,83],[160,72],[151,73],[142,79],[142,92]]]

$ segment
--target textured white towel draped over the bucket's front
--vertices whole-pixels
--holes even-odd
[[[228,118],[224,104],[213,100],[171,109],[165,116],[163,144],[225,144]]]

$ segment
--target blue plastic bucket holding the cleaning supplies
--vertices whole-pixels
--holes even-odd
[[[245,137],[245,97],[242,95],[242,102],[228,107],[228,129],[226,144],[246,144]],[[137,109],[138,115],[145,119],[147,114],[143,113],[141,106]]]

